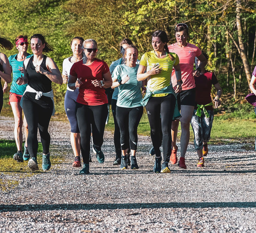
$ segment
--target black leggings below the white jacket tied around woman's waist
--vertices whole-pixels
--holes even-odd
[[[53,111],[51,98],[42,96],[39,100],[23,96],[22,108],[28,123],[28,152],[30,157],[37,157],[39,129],[43,153],[49,153],[51,137],[48,127]]]

